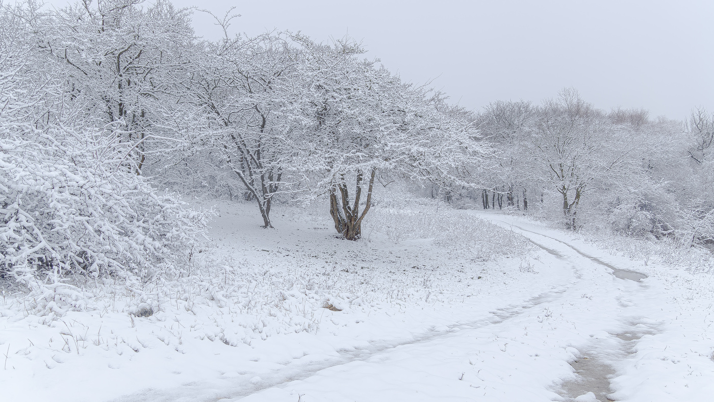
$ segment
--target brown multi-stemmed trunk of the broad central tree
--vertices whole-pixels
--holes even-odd
[[[363,210],[359,211],[359,201],[362,194],[363,174],[357,173],[355,199],[350,202],[347,184],[344,177],[330,189],[330,215],[335,223],[335,230],[347,240],[357,240],[362,236],[362,221],[367,215],[372,202],[372,189],[377,169],[372,169],[367,189],[367,199]]]

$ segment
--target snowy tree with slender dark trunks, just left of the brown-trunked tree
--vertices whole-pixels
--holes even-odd
[[[206,116],[203,143],[216,169],[227,169],[270,221],[291,158],[294,126],[286,116],[296,104],[300,52],[282,36],[226,38],[206,44],[190,81],[193,102]]]

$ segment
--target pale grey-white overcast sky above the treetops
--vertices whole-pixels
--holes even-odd
[[[539,102],[573,86],[602,109],[684,119],[714,110],[714,1],[173,0],[241,17],[248,35],[290,29],[361,40],[406,81],[433,79],[469,109],[496,99]],[[61,0],[51,1],[61,4]],[[198,34],[220,31],[206,14]]]

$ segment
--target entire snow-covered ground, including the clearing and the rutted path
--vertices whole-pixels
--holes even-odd
[[[451,212],[506,228],[479,232],[491,234],[482,243],[512,248],[482,261],[478,250],[449,247],[448,230],[400,238],[366,229],[351,242],[335,238],[324,213],[278,207],[276,230],[264,230],[253,209],[218,205],[213,245],[193,253],[190,278],[4,295],[3,400],[705,401],[714,393],[709,274],[644,266],[496,213]],[[374,216],[383,222],[371,228],[388,223]]]

